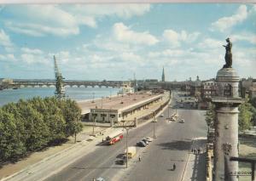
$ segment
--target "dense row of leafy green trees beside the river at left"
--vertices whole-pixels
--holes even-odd
[[[81,110],[71,99],[20,99],[0,108],[0,160],[61,143],[82,130]]]

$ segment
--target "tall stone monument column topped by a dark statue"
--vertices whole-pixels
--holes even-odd
[[[230,39],[227,40],[230,43]],[[226,65],[217,73],[217,95],[212,98],[216,111],[213,144],[213,180],[215,181],[238,180],[236,176],[230,174],[238,171],[238,162],[230,161],[230,156],[238,157],[238,106],[243,100],[239,97],[239,76],[236,70],[231,68],[232,57],[231,55],[228,57],[227,54],[231,53],[226,52]]]

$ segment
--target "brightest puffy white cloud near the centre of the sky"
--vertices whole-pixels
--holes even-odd
[[[148,31],[136,32],[132,31],[130,27],[123,23],[116,23],[113,25],[113,36],[119,42],[128,42],[131,44],[154,45],[159,40]]]

